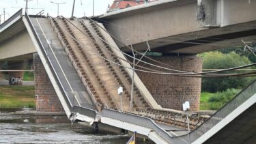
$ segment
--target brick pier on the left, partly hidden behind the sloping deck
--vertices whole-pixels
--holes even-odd
[[[63,111],[61,102],[57,97],[55,89],[44,69],[42,61],[38,54],[33,55],[34,80],[35,80],[35,107],[37,111]]]

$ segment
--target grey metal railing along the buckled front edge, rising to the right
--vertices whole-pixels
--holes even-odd
[[[213,128],[218,122],[222,121],[229,113],[238,108],[241,104],[246,102],[256,93],[256,81],[253,81],[251,85],[244,88],[238,95],[236,95],[230,102],[225,104],[219,111],[217,111],[212,117],[207,119],[201,126],[197,127],[195,130],[190,132],[190,141],[193,142],[199,139],[200,136],[208,132]],[[102,111],[102,116],[109,117],[111,119],[117,119],[119,121],[125,121],[130,124],[143,126],[145,128],[150,128],[154,130],[162,139],[169,143],[188,143],[188,135],[183,136],[171,136],[165,130],[157,126],[152,119],[147,117],[141,117],[138,115],[132,115],[128,113],[122,113],[119,111],[104,109]]]

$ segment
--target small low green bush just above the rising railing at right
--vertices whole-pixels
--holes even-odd
[[[218,110],[221,106],[229,102],[234,96],[240,92],[240,89],[227,89],[227,91],[217,92],[210,96],[208,103],[210,109]]]

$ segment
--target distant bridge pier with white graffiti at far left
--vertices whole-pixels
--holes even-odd
[[[23,70],[23,61],[8,61],[8,70]],[[9,85],[23,85],[24,72],[8,72]]]

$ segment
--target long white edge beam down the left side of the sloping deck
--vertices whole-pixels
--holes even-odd
[[[57,82],[55,81],[55,78],[54,78],[54,76],[53,76],[53,74],[51,72],[51,69],[48,66],[48,63],[47,63],[47,61],[46,61],[46,59],[45,59],[45,57],[44,57],[44,55],[43,55],[43,53],[42,53],[42,51],[40,49],[40,46],[39,46],[38,42],[35,39],[35,35],[33,35],[33,32],[31,30],[31,28],[29,26],[29,23],[27,22],[27,19],[25,18],[25,16],[23,17],[23,23],[25,24],[25,27],[27,28],[27,31],[29,32],[30,38],[31,38],[31,40],[32,40],[32,42],[33,42],[33,44],[35,46],[35,49],[38,52],[38,55],[39,55],[43,65],[44,65],[46,73],[48,74],[48,76],[50,78],[50,81],[51,81],[51,83],[52,83],[52,85],[53,85],[53,87],[55,89],[55,92],[57,93],[57,96],[58,96],[58,98],[59,98],[59,100],[60,100],[60,102],[61,102],[61,104],[63,106],[63,109],[66,112],[67,117],[69,118],[70,113],[71,113],[70,109],[68,108],[68,105],[66,104],[66,101],[63,98],[63,95],[62,95],[62,93],[61,93],[61,91],[59,89],[59,86],[57,85]]]

